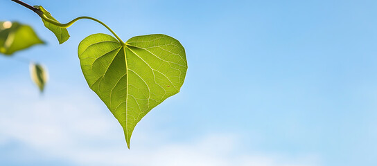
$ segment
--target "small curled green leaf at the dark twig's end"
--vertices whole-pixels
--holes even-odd
[[[43,14],[46,15],[47,18],[59,22],[50,14],[50,12],[48,12],[42,6],[34,6],[34,7],[40,9],[40,11],[42,11]],[[56,38],[58,38],[59,44],[62,44],[69,39],[70,36],[66,28],[60,28],[59,26],[55,26],[44,19],[42,19],[42,21],[43,21],[44,26],[46,26],[46,28],[51,30],[51,32],[55,34]]]

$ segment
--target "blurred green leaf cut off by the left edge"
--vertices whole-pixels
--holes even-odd
[[[18,22],[0,21],[0,53],[12,55],[17,50],[24,50],[44,42],[30,26]]]

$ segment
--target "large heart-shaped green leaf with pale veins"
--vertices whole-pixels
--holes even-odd
[[[181,88],[187,71],[183,46],[173,37],[132,37],[125,44],[94,34],[78,46],[82,73],[90,88],[119,120],[130,148],[136,124]]]

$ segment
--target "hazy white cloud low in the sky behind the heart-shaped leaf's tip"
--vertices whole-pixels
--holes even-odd
[[[23,92],[12,94],[18,93]],[[12,102],[12,97],[0,101],[0,143],[21,142],[43,156],[78,165],[319,165],[315,156],[240,152],[240,139],[227,133],[209,133],[196,140],[169,142],[164,133],[138,129],[129,150],[120,125],[109,112],[103,111],[101,103],[86,100],[85,93],[74,91],[59,98],[26,100],[32,94],[21,95],[22,104]]]

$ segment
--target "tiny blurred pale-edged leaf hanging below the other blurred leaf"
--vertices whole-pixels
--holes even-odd
[[[49,73],[46,68],[40,64],[30,64],[30,77],[42,93],[49,80]]]

